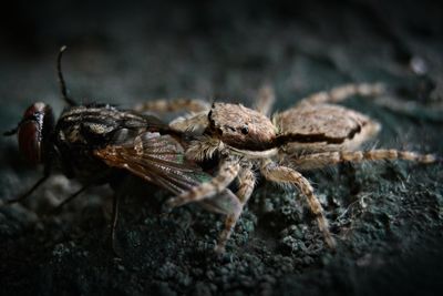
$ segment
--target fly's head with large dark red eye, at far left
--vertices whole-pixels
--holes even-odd
[[[4,135],[18,135],[20,153],[31,164],[44,162],[50,135],[54,129],[52,109],[42,102],[30,105],[18,126]]]

